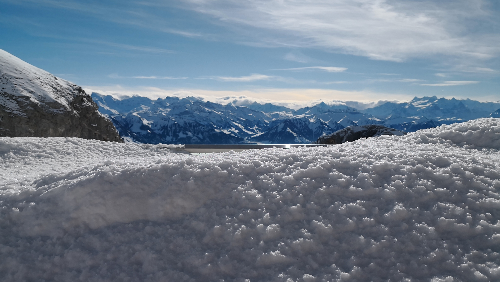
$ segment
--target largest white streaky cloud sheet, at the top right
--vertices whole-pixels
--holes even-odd
[[[320,48],[375,60],[500,53],[490,1],[184,0],[262,46]],[[490,29],[477,29],[480,25]],[[250,41],[249,41],[250,42]]]

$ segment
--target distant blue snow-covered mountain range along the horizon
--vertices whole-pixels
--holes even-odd
[[[500,103],[414,98],[357,110],[321,102],[298,110],[256,102],[226,105],[194,97],[117,100],[92,93],[128,141],[164,144],[308,144],[348,126],[379,124],[406,132],[498,115]]]

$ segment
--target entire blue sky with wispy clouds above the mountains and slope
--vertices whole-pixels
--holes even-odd
[[[0,0],[0,48],[102,93],[500,100],[482,0]]]

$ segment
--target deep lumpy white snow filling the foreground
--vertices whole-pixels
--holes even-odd
[[[0,138],[2,281],[500,279],[500,119],[186,155]]]

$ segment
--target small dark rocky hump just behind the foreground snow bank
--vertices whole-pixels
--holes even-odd
[[[337,130],[331,134],[319,137],[311,144],[340,144],[344,142],[352,142],[360,138],[376,137],[381,135],[405,135],[406,132],[399,131],[394,128],[385,127],[383,125],[368,124],[360,126],[348,126],[344,129]]]

